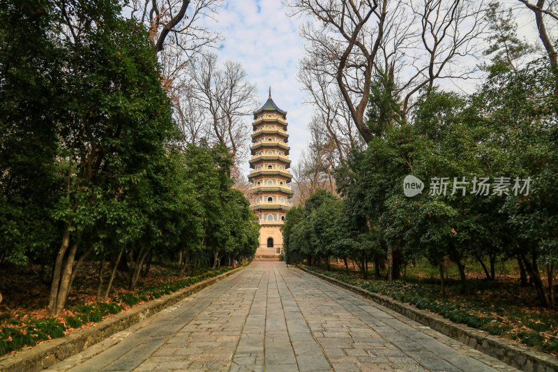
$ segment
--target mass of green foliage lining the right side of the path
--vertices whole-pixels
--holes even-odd
[[[507,22],[494,19],[500,21]],[[511,24],[498,27],[504,26],[513,31]],[[372,138],[366,149],[353,149],[335,170],[347,212],[343,229],[347,234],[360,232],[366,237],[362,241],[370,244],[363,249],[365,244],[350,244],[342,232],[336,232],[338,248],[335,254],[327,254],[376,262],[387,256],[392,259],[388,270],[425,257],[440,268],[441,275],[444,259],[449,258],[460,269],[464,292],[468,290],[465,262],[470,258],[519,259],[535,283],[541,304],[552,306],[547,293],[552,288],[544,288],[536,265],[554,272],[558,260],[554,82],[548,61],[541,59],[490,75],[470,96],[423,89],[412,121],[385,126],[382,135]],[[370,122],[378,120],[384,106],[382,89],[389,96],[385,86],[379,84],[380,91],[370,96]],[[425,183],[422,193],[412,198],[402,193],[408,174]],[[447,177],[445,195],[432,190],[434,177]],[[463,177],[467,184],[460,189],[456,182]],[[510,177],[507,193],[494,193],[492,188],[489,195],[477,195],[473,180],[481,177],[492,184],[496,177]],[[514,192],[515,177],[530,177],[529,195]],[[289,229],[288,239],[298,234],[308,246],[314,244],[310,230]],[[364,252],[357,254],[359,248]],[[486,271],[494,279],[494,273]]]

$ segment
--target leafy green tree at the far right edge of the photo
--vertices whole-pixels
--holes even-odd
[[[482,143],[491,168],[531,179],[527,195],[509,193],[502,206],[515,239],[518,255],[543,306],[553,306],[556,256],[555,139],[556,98],[552,63],[539,59],[515,73],[491,77],[474,97],[475,112],[482,117]],[[494,151],[499,149],[499,151]],[[548,271],[544,285],[539,265]],[[548,287],[548,288],[545,288]]]

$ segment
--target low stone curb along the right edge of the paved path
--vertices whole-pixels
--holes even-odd
[[[299,267],[299,269],[350,290],[351,292],[355,292],[365,298],[371,299],[386,308],[390,308],[397,313],[405,315],[407,318],[410,318],[415,322],[435,329],[446,336],[454,338],[461,343],[465,343],[465,345],[469,345],[471,348],[490,355],[491,357],[495,357],[496,359],[499,359],[502,362],[522,371],[558,371],[558,358],[552,357],[552,355],[533,350],[528,346],[521,345],[519,343],[511,343],[503,340],[502,338],[496,338],[487,332],[481,331],[480,329],[474,329],[472,327],[468,327],[467,325],[453,323],[450,320],[443,318],[441,315],[430,313],[430,311],[421,310],[411,305],[401,304],[400,302],[396,302],[387,296],[368,292],[368,290],[365,290],[364,288],[343,283],[335,278],[330,278],[329,276],[319,274],[304,267]]]

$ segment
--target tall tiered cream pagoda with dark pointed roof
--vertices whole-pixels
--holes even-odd
[[[256,258],[277,257],[283,253],[281,225],[291,204],[291,173],[289,167],[289,135],[287,112],[269,98],[254,112],[250,152],[250,200],[261,225]]]

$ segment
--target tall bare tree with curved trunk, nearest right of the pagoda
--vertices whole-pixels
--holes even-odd
[[[306,15],[315,22],[301,27],[308,57],[307,68],[334,77],[349,107],[356,128],[370,141],[364,120],[370,80],[384,33],[387,0],[298,0],[286,3],[292,15]]]

